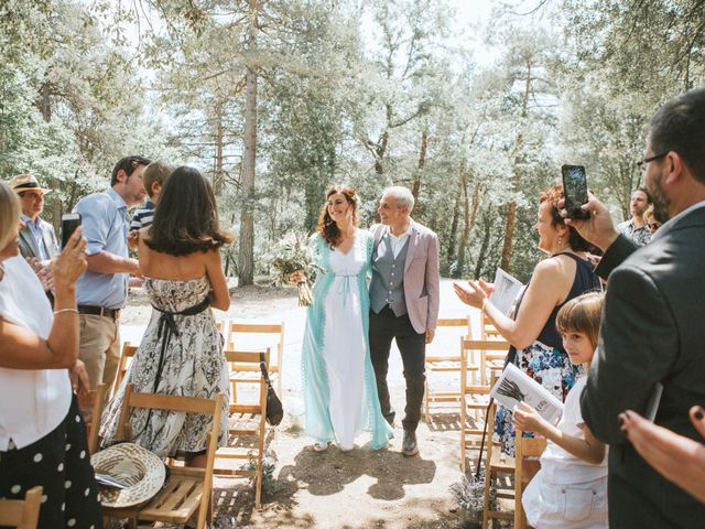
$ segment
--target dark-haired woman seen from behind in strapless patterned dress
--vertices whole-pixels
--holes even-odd
[[[102,417],[104,445],[116,442],[126,385],[135,392],[213,399],[229,395],[223,339],[210,307],[227,311],[230,295],[220,247],[231,238],[220,230],[210,184],[193,168],[166,180],[154,223],[139,231],[140,270],[152,302],[152,317],[130,368]],[[219,444],[228,433],[224,407]],[[212,415],[132,410],[133,441],[160,456],[178,456],[204,466]]]

